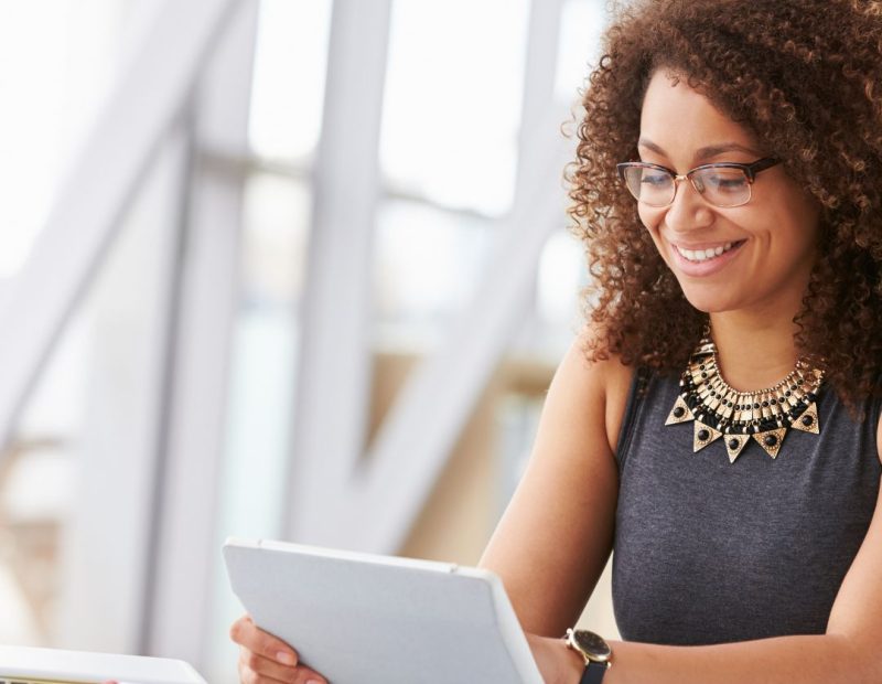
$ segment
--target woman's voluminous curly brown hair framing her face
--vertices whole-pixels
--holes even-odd
[[[592,359],[679,373],[707,316],[641,224],[615,164],[637,158],[653,73],[680,75],[820,206],[819,257],[795,342],[849,406],[882,375],[882,2],[637,0],[607,29],[567,171],[592,285]]]

